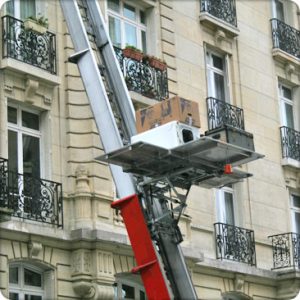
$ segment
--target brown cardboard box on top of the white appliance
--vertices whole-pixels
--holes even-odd
[[[198,103],[175,96],[136,111],[138,133],[171,121],[179,121],[200,127]]]

